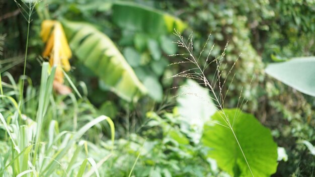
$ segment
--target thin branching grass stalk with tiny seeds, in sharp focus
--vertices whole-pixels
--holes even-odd
[[[217,122],[213,122],[213,123],[219,124],[219,125],[224,126],[224,127],[231,130],[235,140],[238,143],[238,146],[241,149],[241,152],[244,156],[244,159],[247,163],[247,166],[248,166],[252,176],[254,176],[254,174],[251,170],[251,166],[248,163],[248,160],[246,158],[246,154],[243,152],[243,149],[241,147],[241,144],[239,143],[238,137],[233,130],[234,122],[237,121],[238,115],[242,111],[242,106],[247,103],[245,98],[242,98],[243,88],[241,90],[239,100],[238,100],[238,105],[237,105],[238,108],[239,107],[241,108],[241,111],[235,113],[235,115],[233,117],[233,122],[230,122],[230,120],[228,119],[228,117],[224,113],[224,100],[226,98],[226,95],[229,91],[229,86],[231,84],[229,84],[227,86],[227,90],[225,93],[223,93],[223,87],[226,86],[226,84],[227,84],[226,79],[231,74],[231,71],[234,68],[235,64],[237,63],[239,57],[235,60],[235,62],[233,63],[233,65],[229,69],[226,68],[227,65],[223,64],[223,61],[224,61],[224,56],[225,56],[225,50],[226,50],[226,47],[228,45],[228,42],[227,42],[224,49],[223,49],[223,52],[221,53],[221,55],[219,57],[215,57],[214,59],[209,58],[211,51],[214,47],[214,45],[213,45],[211,47],[210,52],[208,53],[204,63],[200,64],[202,62],[201,61],[201,55],[207,46],[207,42],[209,41],[209,37],[208,37],[205,45],[203,46],[202,51],[199,53],[198,57],[195,57],[194,47],[193,47],[193,34],[191,33],[186,41],[184,40],[183,36],[181,35],[181,33],[179,31],[175,30],[174,34],[179,38],[179,40],[176,41],[175,43],[178,45],[178,47],[184,48],[187,53],[170,55],[170,56],[181,56],[184,59],[184,61],[175,62],[175,63],[172,63],[171,65],[173,65],[173,64],[192,64],[193,67],[190,69],[184,70],[178,74],[175,74],[172,77],[192,78],[192,79],[198,81],[198,84],[204,85],[206,87],[206,89],[212,93],[213,96],[211,97],[211,99],[214,101],[214,104],[216,106],[216,110],[220,113],[222,120],[226,123],[227,126],[219,124]],[[211,64],[215,65],[215,71],[214,71],[214,77],[211,79],[211,81],[209,81],[209,79],[205,75],[205,70]],[[225,76],[225,79],[222,80],[221,79],[222,71],[226,70],[226,69],[227,69],[227,74]],[[234,76],[235,76],[235,74],[232,75],[231,82],[233,81]],[[177,87],[174,87],[174,88],[177,88]]]

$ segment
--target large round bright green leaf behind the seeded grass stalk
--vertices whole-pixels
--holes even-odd
[[[238,109],[224,109],[229,122],[233,124],[247,161],[254,176],[270,176],[277,169],[277,144],[273,141],[269,129],[262,126],[251,114]],[[212,116],[213,121],[227,126],[222,112]],[[232,176],[252,176],[231,129],[213,122],[204,126],[202,142],[208,146],[208,156],[217,161],[218,166]]]

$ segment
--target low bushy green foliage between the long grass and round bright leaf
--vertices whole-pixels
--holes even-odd
[[[106,169],[108,175],[126,176],[137,156],[134,176],[207,176],[212,175],[210,163],[206,160],[205,149],[192,144],[180,124],[185,123],[172,113],[161,117],[147,113],[147,123],[141,134],[130,134],[129,140],[119,139],[116,148],[119,154],[113,156],[113,166]],[[191,130],[194,131],[194,130]],[[146,138],[143,138],[146,137]],[[215,173],[218,173],[216,171]]]

